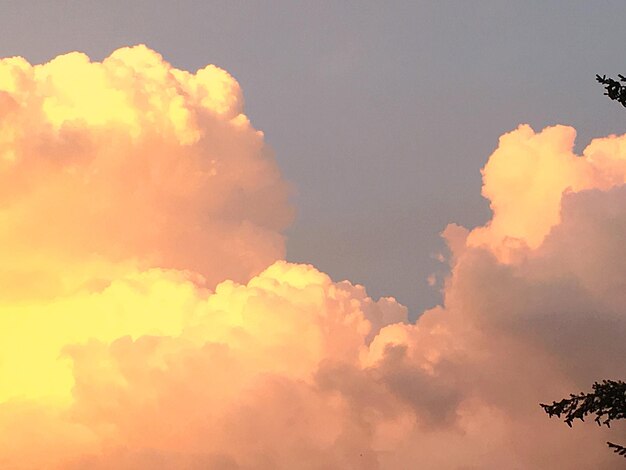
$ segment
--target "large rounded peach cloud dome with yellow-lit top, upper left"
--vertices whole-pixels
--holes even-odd
[[[102,63],[4,59],[0,104],[0,280],[14,295],[76,288],[88,263],[214,286],[283,256],[288,186],[225,71],[177,70],[144,46]]]

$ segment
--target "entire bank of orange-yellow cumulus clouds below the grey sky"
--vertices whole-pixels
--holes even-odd
[[[503,136],[444,302],[282,260],[237,82],[144,46],[0,61],[0,468],[611,469],[538,403],[626,376],[626,137]],[[434,228],[436,229],[436,228]]]

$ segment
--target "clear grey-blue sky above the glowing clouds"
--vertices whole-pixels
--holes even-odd
[[[294,187],[288,259],[393,295],[417,316],[450,221],[484,223],[498,137],[567,124],[621,132],[596,73],[620,73],[620,1],[3,2],[0,56],[145,43],[239,81]],[[454,137],[451,134],[454,132]]]

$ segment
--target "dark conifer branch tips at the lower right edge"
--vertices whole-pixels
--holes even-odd
[[[598,426],[611,427],[611,421],[626,418],[626,383],[621,380],[603,380],[593,384],[593,392],[570,394],[569,398],[555,401],[551,405],[540,405],[550,417],[563,417],[569,427],[574,420],[585,420],[585,416],[595,414]],[[626,457],[626,447],[607,442],[609,448]]]

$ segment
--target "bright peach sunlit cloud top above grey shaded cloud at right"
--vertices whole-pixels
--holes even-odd
[[[573,152],[575,137],[571,127],[535,133],[528,125],[500,137],[483,169],[493,218],[472,231],[471,245],[488,246],[501,260],[516,248],[537,248],[560,222],[564,194],[626,182],[626,137],[595,139],[582,156]]]

